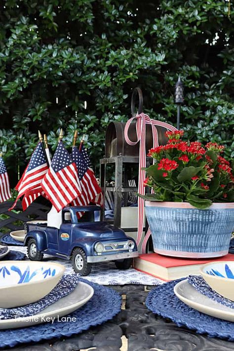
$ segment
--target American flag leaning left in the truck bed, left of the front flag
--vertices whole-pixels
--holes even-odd
[[[30,158],[24,174],[15,187],[19,193],[13,206],[9,210],[12,210],[15,207],[17,200],[23,195],[23,210],[25,210],[39,195],[42,195],[43,191],[40,183],[44,175],[47,173],[48,168],[42,143],[39,142]]]

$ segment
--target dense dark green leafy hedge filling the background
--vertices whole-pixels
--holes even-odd
[[[108,123],[130,117],[135,86],[145,112],[176,125],[178,74],[187,136],[224,144],[234,156],[227,1],[5,0],[0,9],[0,147],[14,181],[38,129],[54,149],[60,127],[68,147],[78,128],[97,165]]]

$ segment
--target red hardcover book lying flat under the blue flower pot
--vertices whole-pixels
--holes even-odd
[[[234,255],[228,254],[212,259],[187,259],[150,253],[141,254],[139,257],[134,258],[133,266],[137,271],[170,281],[186,277],[189,274],[199,274],[202,265],[213,261],[234,261]]]

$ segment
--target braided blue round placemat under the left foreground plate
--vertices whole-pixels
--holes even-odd
[[[0,348],[13,347],[22,343],[33,343],[53,338],[69,337],[112,319],[121,310],[120,295],[110,288],[91,283],[94,294],[84,306],[70,314],[76,317],[76,322],[54,322],[38,324],[32,327],[0,330]]]

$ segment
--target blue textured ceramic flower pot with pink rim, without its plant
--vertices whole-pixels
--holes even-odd
[[[188,202],[146,201],[156,253],[188,258],[224,256],[234,229],[234,202],[199,210]]]

